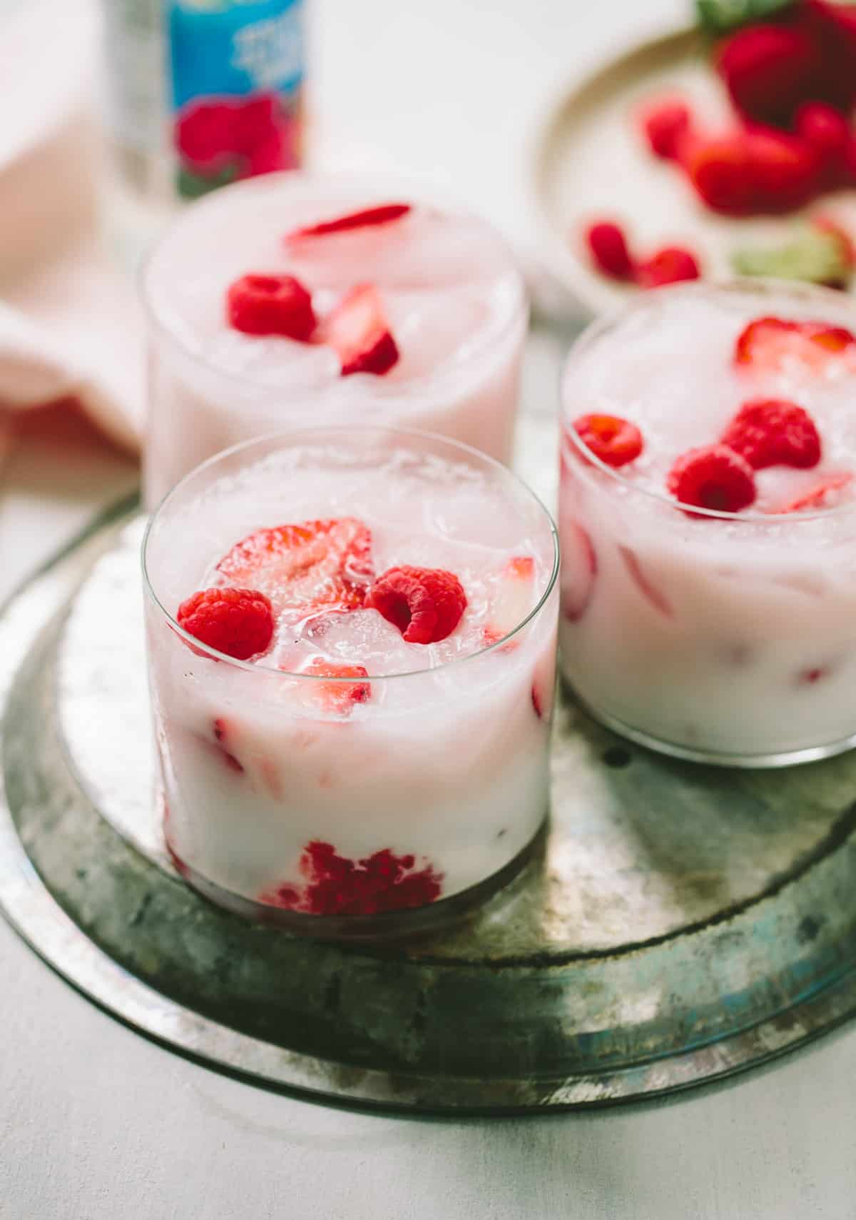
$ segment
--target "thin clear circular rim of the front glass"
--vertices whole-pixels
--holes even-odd
[[[416,440],[429,440],[433,444],[440,443],[444,447],[449,447],[449,449],[451,449],[454,453],[478,459],[479,462],[487,465],[489,468],[499,471],[502,478],[507,479],[512,486],[517,487],[526,497],[528,497],[528,499],[540,511],[540,515],[546,521],[550,532],[550,540],[552,543],[552,566],[550,570],[550,575],[547,577],[544,590],[541,592],[540,597],[538,598],[538,601],[529,611],[529,614],[526,616],[526,619],[522,619],[521,622],[518,622],[517,626],[512,631],[510,631],[506,636],[502,636],[501,639],[495,640],[493,644],[487,644],[484,648],[479,648],[473,653],[467,653],[463,656],[454,656],[451,658],[451,660],[443,661],[440,665],[427,665],[418,670],[404,670],[396,673],[379,673],[377,676],[367,673],[365,678],[327,677],[323,673],[298,673],[291,670],[274,670],[267,665],[261,665],[252,661],[241,661],[238,660],[238,658],[235,656],[229,656],[228,653],[221,653],[216,648],[211,648],[209,644],[205,644],[201,639],[198,639],[195,636],[191,636],[183,627],[180,627],[174,615],[172,615],[166,609],[161,599],[155,593],[151,580],[149,577],[149,565],[148,565],[149,538],[151,536],[156,521],[159,520],[163,510],[168,506],[169,501],[173,499],[173,497],[177,497],[184,489],[185,484],[189,483],[190,479],[195,478],[198,475],[201,475],[204,471],[210,470],[212,466],[217,465],[224,459],[232,458],[233,455],[241,453],[243,450],[248,450],[255,447],[269,445],[272,442],[282,442],[282,445],[279,445],[279,448],[288,449],[288,448],[294,448],[295,443],[298,443],[301,437],[318,437],[318,436],[321,436],[322,438],[324,436],[328,437],[338,436],[343,438],[350,437],[351,439],[360,436],[378,437],[378,438],[393,436],[393,437],[402,437],[405,438],[405,440],[407,438],[413,438]],[[337,682],[337,683],[343,683],[345,686],[354,686],[355,682],[390,682],[395,681],[396,678],[412,678],[426,673],[439,673],[440,671],[449,670],[452,666],[466,665],[467,661],[474,661],[479,656],[485,656],[488,653],[493,653],[494,650],[502,648],[504,644],[507,644],[508,640],[513,639],[515,636],[519,634],[519,632],[522,632],[524,627],[527,627],[530,622],[534,622],[534,620],[540,615],[541,610],[546,605],[550,594],[552,593],[556,581],[558,578],[560,548],[558,548],[558,531],[556,528],[556,523],[552,520],[552,515],[550,514],[550,511],[547,510],[546,505],[540,499],[540,497],[537,495],[535,492],[533,492],[529,484],[526,483],[519,477],[519,475],[516,475],[507,466],[504,466],[502,462],[496,461],[495,458],[490,458],[488,454],[482,453],[480,449],[474,449],[472,445],[463,444],[463,442],[461,440],[452,440],[449,437],[441,436],[439,432],[423,432],[418,428],[384,427],[383,425],[378,426],[322,425],[317,428],[288,428],[285,431],[277,429],[274,432],[266,432],[262,436],[252,437],[250,440],[241,440],[235,445],[230,445],[228,449],[221,449],[219,453],[216,453],[213,454],[213,456],[206,459],[206,461],[200,462],[199,466],[194,466],[194,468],[189,471],[184,476],[184,478],[182,478],[178,483],[176,483],[176,486],[169,492],[167,492],[167,494],[163,497],[163,499],[160,501],[156,509],[150,514],[149,520],[146,522],[145,533],[143,534],[143,543],[140,545],[140,562],[143,572],[143,588],[145,590],[146,597],[151,599],[155,608],[166,620],[167,625],[180,637],[180,639],[183,639],[184,643],[191,647],[196,653],[201,653],[209,660],[223,661],[227,665],[232,665],[235,669],[245,670],[248,673],[269,673],[269,675],[278,675],[283,680],[299,678],[300,681],[309,681],[309,682]],[[343,661],[343,664],[348,662]],[[358,662],[355,661],[352,664],[358,664]]]

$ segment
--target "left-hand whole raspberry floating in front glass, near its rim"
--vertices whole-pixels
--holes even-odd
[[[204,589],[182,601],[178,626],[209,648],[245,661],[271,643],[273,614],[256,589]]]

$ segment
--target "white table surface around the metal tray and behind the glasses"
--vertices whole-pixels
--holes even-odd
[[[71,2],[71,0],[68,0]],[[322,161],[441,168],[518,238],[551,87],[684,0],[316,0]],[[533,345],[550,410],[561,340]],[[0,594],[134,479],[91,445],[0,475]],[[146,1042],[0,924],[1,1220],[852,1220],[856,1028],[601,1114],[440,1121],[266,1093]]]

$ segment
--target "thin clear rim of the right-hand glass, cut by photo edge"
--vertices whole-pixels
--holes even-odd
[[[758,276],[752,278],[746,277],[732,277],[729,279],[706,279],[694,283],[683,284],[669,284],[656,289],[657,294],[667,293],[671,295],[682,296],[717,296],[726,295],[728,293],[737,294],[750,294],[757,296],[790,296],[791,299],[805,298],[808,303],[811,301],[828,301],[834,305],[835,310],[840,310],[843,301],[841,294],[833,290],[832,288],[823,288],[819,284],[802,284],[791,279],[773,279],[768,276]],[[668,495],[666,492],[660,492],[655,488],[641,487],[633,479],[622,475],[621,468],[616,470],[615,466],[607,466],[605,461],[585,444],[583,438],[579,436],[577,429],[573,427],[573,420],[569,417],[571,412],[566,406],[566,394],[565,383],[567,381],[568,372],[573,362],[579,357],[582,353],[588,350],[590,346],[601,338],[602,334],[607,333],[612,327],[621,325],[627,317],[644,309],[646,304],[650,304],[650,298],[644,296],[638,300],[632,300],[621,307],[612,310],[600,317],[596,317],[593,322],[585,327],[584,331],[574,339],[571,350],[562,361],[562,367],[558,375],[560,384],[560,421],[562,427],[560,428],[560,448],[565,445],[566,442],[572,444],[583,459],[583,466],[593,466],[601,473],[607,475],[612,482],[621,487],[627,488],[637,495],[644,495],[649,500],[666,505],[669,509],[680,512],[684,516],[693,517],[712,517],[718,521],[745,521],[749,523],[757,525],[758,522],[774,526],[782,522],[801,522],[801,521],[817,521],[823,518],[829,521],[833,517],[843,517],[846,514],[856,512],[856,500],[850,500],[846,504],[838,504],[829,509],[817,509],[811,512],[795,511],[795,512],[727,512],[719,509],[704,509],[696,504],[685,504],[683,500],[676,500],[673,497]],[[854,326],[856,329],[856,306],[849,310],[854,315]],[[845,306],[845,312],[847,312]],[[597,414],[597,412],[595,412]],[[608,414],[606,411],[600,414]],[[856,476],[855,476],[856,477]]]

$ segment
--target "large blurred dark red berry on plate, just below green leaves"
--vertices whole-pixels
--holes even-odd
[[[817,96],[823,57],[805,29],[752,24],[726,39],[716,67],[741,115],[786,127],[799,105]]]

